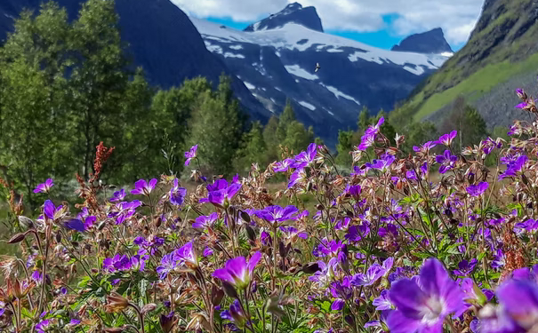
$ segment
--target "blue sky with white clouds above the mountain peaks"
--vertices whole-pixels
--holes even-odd
[[[248,22],[282,10],[293,0],[172,0],[197,17]],[[483,0],[299,0],[317,9],[325,29],[357,32],[388,28],[395,36],[441,27],[451,44],[465,42],[481,12]],[[390,27],[384,15],[397,14]]]

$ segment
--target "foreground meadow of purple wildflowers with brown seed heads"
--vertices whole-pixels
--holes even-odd
[[[81,181],[70,205],[47,179],[36,216],[16,214],[20,254],[0,263],[0,329],[537,331],[538,123],[462,152],[452,131],[414,155],[382,123],[349,175],[311,144],[244,178],[196,169],[189,191],[173,176],[106,195]]]

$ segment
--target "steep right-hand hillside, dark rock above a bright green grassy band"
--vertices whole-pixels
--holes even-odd
[[[470,101],[483,97],[498,84],[538,68],[537,19],[533,0],[486,0],[468,44],[407,100],[414,120],[458,96]]]

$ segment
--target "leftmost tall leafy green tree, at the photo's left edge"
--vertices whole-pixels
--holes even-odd
[[[66,12],[44,4],[35,19],[21,14],[0,53],[0,165],[30,205],[34,186],[70,165],[66,36]]]

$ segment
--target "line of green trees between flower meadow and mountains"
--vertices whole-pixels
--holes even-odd
[[[95,147],[116,147],[105,178],[118,185],[161,173],[181,175],[183,152],[197,144],[206,173],[246,172],[298,153],[317,141],[288,102],[267,124],[249,122],[224,75],[213,89],[204,78],[159,90],[132,69],[111,1],[89,0],[73,22],[57,4],[23,12],[0,48],[0,177],[33,202],[36,184],[68,182],[92,174]],[[465,132],[461,145],[486,136],[486,125],[464,101],[443,128]],[[349,167],[349,151],[383,112],[363,109],[357,130],[340,131],[336,162]],[[381,131],[405,134],[406,149],[438,135],[431,123],[410,123],[406,110]],[[478,126],[478,127],[477,127]]]

